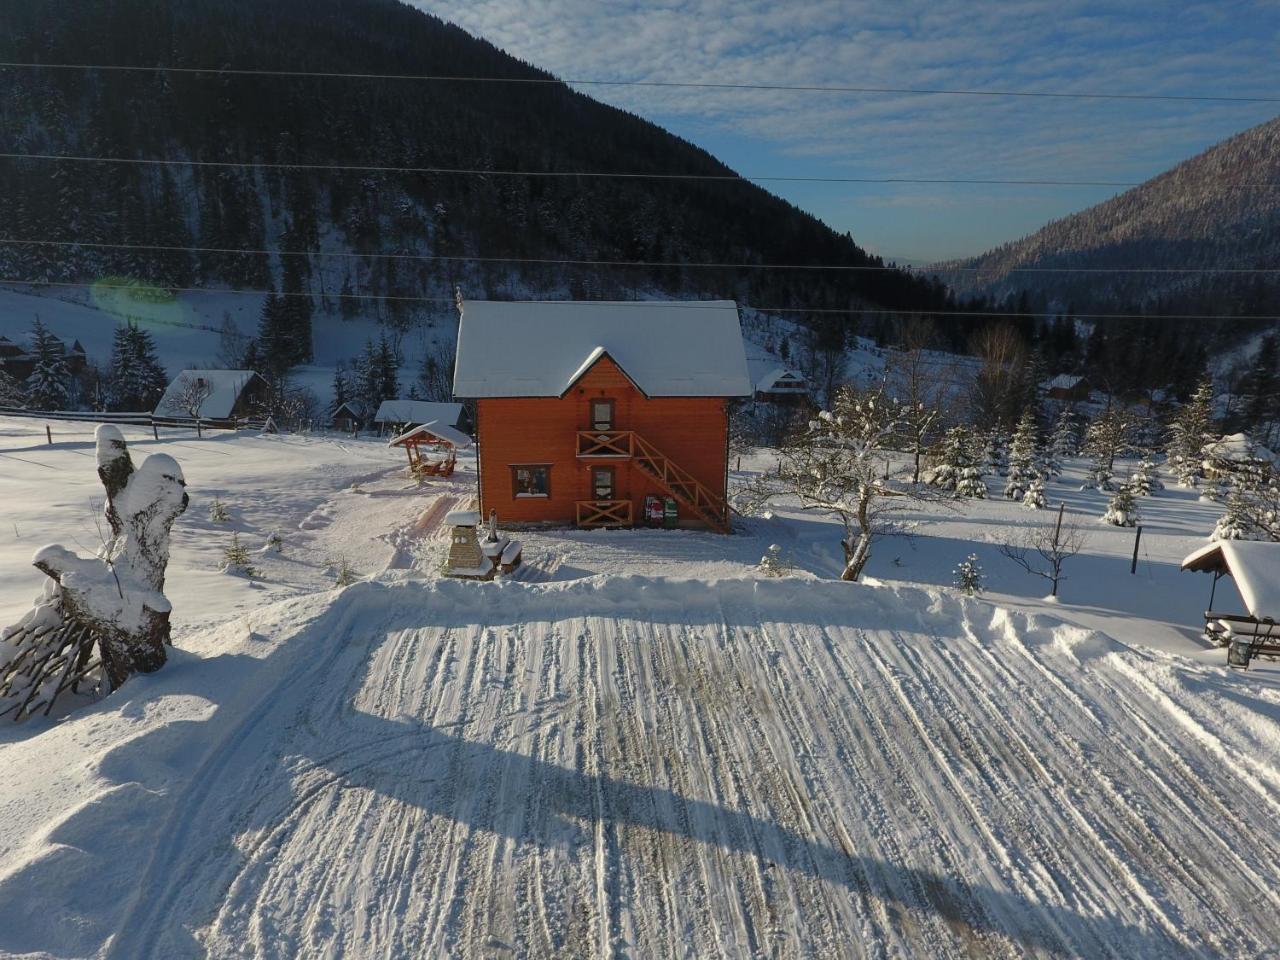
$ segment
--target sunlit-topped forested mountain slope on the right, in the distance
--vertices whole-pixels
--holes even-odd
[[[1280,266],[1280,118],[1178,164],[1139,187],[972,260],[940,265],[957,291],[1027,291],[1060,307],[1132,305],[1155,312],[1280,311],[1280,279],[1229,270]],[[1028,274],[1018,268],[1176,268],[1197,274]],[[977,268],[978,273],[947,273]]]

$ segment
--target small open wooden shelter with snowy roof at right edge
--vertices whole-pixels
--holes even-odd
[[[1280,657],[1280,543],[1215,540],[1189,554],[1183,570],[1213,575],[1204,636],[1228,648],[1226,662],[1248,667],[1254,657]],[[1230,576],[1248,611],[1213,611],[1217,581]]]

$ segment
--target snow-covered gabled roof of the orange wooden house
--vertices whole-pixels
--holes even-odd
[[[605,353],[650,397],[748,397],[733,301],[466,301],[456,397],[559,397]]]

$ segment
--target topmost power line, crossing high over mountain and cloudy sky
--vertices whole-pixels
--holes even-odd
[[[965,97],[1024,97],[1039,100],[1126,100],[1162,102],[1208,102],[1208,104],[1277,104],[1280,97],[1266,96],[1224,96],[1208,93],[1103,93],[1098,91],[1039,91],[1039,90],[959,90],[952,87],[870,87],[870,86],[828,86],[819,83],[719,83],[710,81],[637,81],[637,79],[586,79],[557,77],[480,77],[428,73],[339,73],[334,70],[266,70],[248,68],[209,68],[209,67],[142,67],[129,64],[76,64],[76,63],[18,63],[0,61],[4,69],[35,70],[101,70],[106,73],[178,73],[206,77],[294,77],[326,79],[384,79],[417,81],[431,83],[515,83],[524,86],[573,86],[573,87],[659,87],[689,90],[744,90],[744,91],[790,91],[797,93],[888,93],[911,96],[965,96]]]

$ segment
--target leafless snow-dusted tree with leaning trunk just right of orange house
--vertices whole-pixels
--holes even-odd
[[[886,532],[893,509],[906,499],[931,499],[888,475],[883,454],[901,420],[901,404],[883,387],[838,388],[832,408],[782,447],[778,471],[745,488],[740,503],[760,509],[776,498],[794,497],[804,509],[833,513],[844,527],[841,580],[858,580],[872,540]]]

